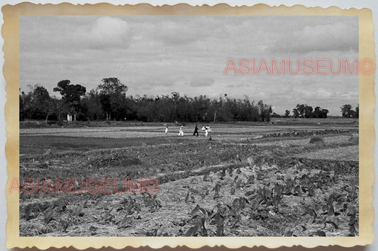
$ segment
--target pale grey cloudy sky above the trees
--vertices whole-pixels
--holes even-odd
[[[21,16],[20,88],[64,79],[87,91],[118,77],[128,95],[264,100],[283,114],[297,103],[340,115],[358,103],[357,75],[223,74],[229,59],[358,58],[357,16]]]

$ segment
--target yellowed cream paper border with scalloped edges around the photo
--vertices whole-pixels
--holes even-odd
[[[360,235],[357,237],[20,237],[19,236],[19,201],[18,194],[8,189],[11,180],[18,179],[19,174],[19,121],[18,121],[18,86],[19,86],[19,16],[123,16],[123,15],[217,15],[217,16],[359,16],[359,46],[360,59],[370,58],[376,62],[374,54],[374,24],[372,11],[368,8],[340,9],[305,6],[267,6],[258,4],[252,7],[231,7],[227,4],[216,6],[189,6],[177,4],[174,6],[151,6],[137,4],[114,6],[111,4],[30,4],[22,3],[15,6],[6,5],[2,8],[4,25],[1,35],[4,37],[4,78],[6,80],[5,107],[6,116],[6,159],[8,161],[8,180],[6,182],[6,197],[8,219],[6,221],[6,247],[69,247],[78,249],[88,247],[126,246],[140,247],[176,247],[186,245],[197,248],[204,245],[211,247],[224,245],[226,247],[280,247],[302,245],[316,247],[318,245],[340,245],[352,247],[368,245],[374,240],[372,223],[374,221],[373,185],[374,185],[374,73],[359,76],[360,97]]]

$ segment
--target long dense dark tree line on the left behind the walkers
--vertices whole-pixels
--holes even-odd
[[[62,122],[73,120],[139,120],[143,122],[269,122],[272,107],[260,100],[216,99],[206,95],[191,98],[173,92],[154,98],[127,96],[128,87],[118,78],[103,78],[96,89],[87,92],[84,86],[62,80],[53,89],[61,98],[50,96],[43,86],[29,86],[20,93],[20,119],[45,119]]]

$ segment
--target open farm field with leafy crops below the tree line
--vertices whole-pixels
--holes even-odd
[[[20,235],[358,235],[355,122],[211,124],[211,140],[191,136],[191,124],[182,137],[164,128],[21,128]],[[31,192],[26,178],[45,191]],[[90,178],[113,179],[118,191],[124,178],[160,187],[55,193],[56,178],[77,190]]]

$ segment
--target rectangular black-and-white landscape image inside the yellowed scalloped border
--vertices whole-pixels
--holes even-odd
[[[359,235],[358,16],[20,16],[19,36],[20,236]]]

